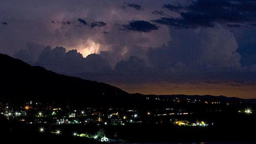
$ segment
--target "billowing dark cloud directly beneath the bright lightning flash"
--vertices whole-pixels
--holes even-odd
[[[111,68],[101,56],[91,54],[83,58],[77,50],[66,52],[64,47],[51,49],[47,46],[40,54],[35,65],[40,65],[54,72],[76,74],[81,72],[107,72]]]

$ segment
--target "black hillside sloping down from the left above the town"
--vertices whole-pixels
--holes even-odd
[[[114,86],[59,75],[0,54],[0,99],[102,104],[122,102],[128,93]]]

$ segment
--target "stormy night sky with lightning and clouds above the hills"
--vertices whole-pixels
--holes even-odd
[[[256,98],[256,1],[1,0],[0,53],[131,93]]]

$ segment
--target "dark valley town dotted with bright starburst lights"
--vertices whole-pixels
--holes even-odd
[[[231,138],[243,141],[244,137],[246,141],[253,140],[252,133],[240,131],[255,127],[255,102],[204,97],[207,96],[148,95],[141,107],[1,102],[0,114],[6,123],[5,132],[11,134],[9,138],[17,135],[34,141],[45,137],[55,142],[68,139],[90,143],[170,142],[169,138],[176,142],[211,141],[215,139],[213,131],[224,134],[218,137],[219,141]],[[191,133],[193,131],[196,133]]]

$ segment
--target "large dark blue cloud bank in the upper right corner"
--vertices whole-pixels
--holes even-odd
[[[177,27],[213,27],[215,23],[256,21],[256,2],[252,0],[196,0],[189,6],[164,4],[163,7],[180,13],[181,17],[161,17],[154,22]]]

